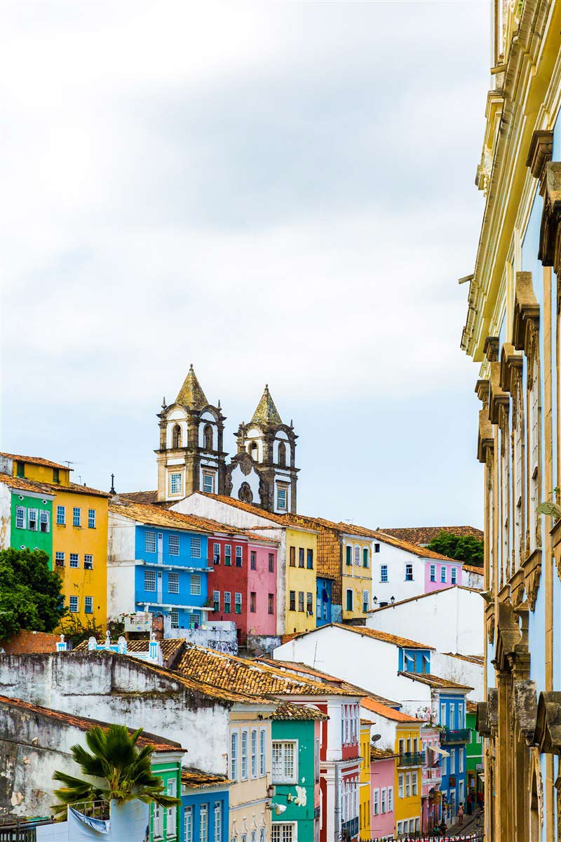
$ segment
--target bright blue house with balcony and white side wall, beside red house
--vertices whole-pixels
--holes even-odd
[[[128,500],[109,509],[108,616],[149,611],[172,628],[199,626],[212,610],[204,521]]]

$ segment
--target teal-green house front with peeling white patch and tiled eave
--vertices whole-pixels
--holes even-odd
[[[315,706],[283,702],[271,717],[273,842],[315,842],[320,823],[320,728],[327,715]],[[316,828],[317,824],[317,828]]]

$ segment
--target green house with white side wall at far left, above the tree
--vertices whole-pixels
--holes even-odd
[[[53,559],[53,500],[37,483],[2,475],[0,481],[0,549],[43,550]]]

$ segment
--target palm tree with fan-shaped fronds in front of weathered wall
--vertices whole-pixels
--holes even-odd
[[[66,815],[68,805],[78,802],[124,804],[138,798],[145,804],[155,802],[161,807],[175,807],[181,803],[179,798],[166,795],[161,778],[152,774],[152,746],[136,748],[142,730],[138,728],[130,733],[124,725],[109,725],[105,729],[95,725],[86,734],[91,754],[81,745],[71,747],[71,754],[84,775],[94,778],[95,782],[56,771],[53,778],[64,784],[55,790],[60,803],[53,810],[59,818]]]

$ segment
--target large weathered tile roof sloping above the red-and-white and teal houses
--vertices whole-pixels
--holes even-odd
[[[357,695],[356,690],[303,678],[287,669],[274,669],[268,664],[251,661],[249,658],[238,658],[190,643],[177,664],[177,671],[191,679],[227,688],[233,693],[274,696]]]

